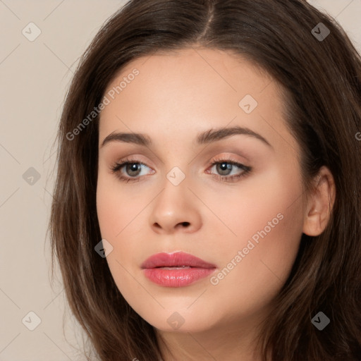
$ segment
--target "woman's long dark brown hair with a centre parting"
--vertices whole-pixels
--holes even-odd
[[[329,30],[324,39],[317,37],[320,26]],[[99,30],[63,106],[49,222],[53,269],[57,257],[73,314],[99,360],[161,357],[156,330],[128,305],[106,259],[94,252],[102,239],[99,116],[76,136],[73,130],[89,120],[130,61],[190,47],[231,51],[267,71],[285,94],[284,116],[302,149],[305,190],[321,166],[334,176],[329,224],[317,237],[302,234],[259,337],[262,360],[360,360],[361,59],[336,20],[302,0],[131,0]],[[319,311],[331,319],[323,331],[311,322]]]

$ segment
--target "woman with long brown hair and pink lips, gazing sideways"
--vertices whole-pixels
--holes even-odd
[[[302,0],[133,0],[106,22],[49,224],[98,360],[360,360],[360,77]]]

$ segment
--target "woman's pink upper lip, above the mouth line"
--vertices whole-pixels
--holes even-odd
[[[198,268],[216,268],[214,264],[205,262],[203,259],[190,255],[185,252],[166,253],[161,252],[152,255],[142,263],[142,268],[156,267],[198,267]]]

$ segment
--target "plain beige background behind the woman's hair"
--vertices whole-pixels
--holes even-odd
[[[361,0],[310,2],[336,17],[361,51]],[[60,276],[50,283],[51,145],[80,55],[122,4],[0,0],[0,361],[85,360]],[[41,30],[33,42],[22,33],[30,32],[30,22]],[[23,179],[30,167],[40,176],[28,178],[32,185]],[[27,327],[36,326],[36,317],[29,312],[41,320],[33,331]]]

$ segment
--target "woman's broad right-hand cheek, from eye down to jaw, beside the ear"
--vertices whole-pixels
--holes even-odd
[[[236,309],[242,300],[251,312],[279,293],[293,267],[302,235],[302,187],[297,172],[271,171],[245,188],[229,198],[224,212],[236,236],[219,249],[221,270],[212,284],[220,304],[231,302]]]

